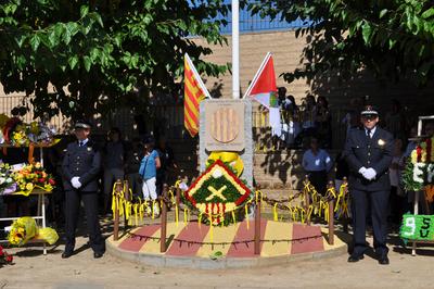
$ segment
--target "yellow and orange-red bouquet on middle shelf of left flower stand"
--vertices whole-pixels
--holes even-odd
[[[21,194],[28,196],[35,188],[52,191],[55,185],[52,175],[43,171],[40,163],[28,164],[12,173]]]

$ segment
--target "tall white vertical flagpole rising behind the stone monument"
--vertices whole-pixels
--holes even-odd
[[[232,0],[232,98],[240,98],[240,3]]]

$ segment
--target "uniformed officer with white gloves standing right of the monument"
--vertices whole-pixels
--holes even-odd
[[[360,113],[362,128],[349,130],[345,144],[352,196],[354,251],[348,262],[363,259],[366,251],[366,217],[370,205],[373,226],[373,247],[379,263],[388,264],[387,206],[391,183],[388,166],[392,162],[393,137],[376,126],[379,113],[367,105]]]

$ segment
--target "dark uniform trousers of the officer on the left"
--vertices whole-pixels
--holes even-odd
[[[66,190],[65,192],[65,251],[74,251],[75,231],[80,201],[85,205],[90,247],[95,253],[104,253],[105,244],[98,221],[98,193],[95,191]]]

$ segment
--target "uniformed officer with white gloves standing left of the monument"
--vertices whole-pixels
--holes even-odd
[[[101,236],[98,221],[98,174],[101,169],[101,154],[94,143],[88,138],[90,124],[77,122],[75,136],[77,141],[67,146],[63,162],[63,186],[65,189],[65,235],[66,246],[62,257],[74,253],[75,230],[77,228],[80,201],[85,204],[90,246],[93,256],[104,254],[104,239]]]

